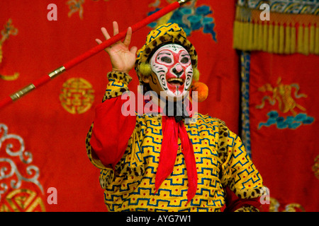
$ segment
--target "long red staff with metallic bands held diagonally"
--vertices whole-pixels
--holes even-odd
[[[169,4],[168,6],[162,8],[160,11],[157,11],[156,13],[153,13],[152,15],[148,16],[147,18],[140,20],[140,22],[135,23],[135,25],[131,26],[132,32],[140,30],[140,28],[145,27],[149,23],[152,23],[153,21],[164,16],[165,14],[173,11],[176,8],[179,8],[179,6],[185,4],[187,1],[190,1],[190,0],[175,1],[174,3]],[[27,93],[30,93],[32,90],[39,88],[41,85],[44,85],[45,83],[51,81],[53,78],[56,78],[57,76],[59,76],[61,73],[65,72],[69,69],[72,69],[72,67],[76,66],[77,64],[80,64],[82,61],[85,61],[86,59],[89,59],[89,57],[93,57],[95,54],[101,52],[103,49],[106,49],[107,47],[111,46],[111,44],[114,44],[115,42],[122,40],[125,37],[126,32],[127,32],[127,30],[118,33],[118,35],[115,35],[115,36],[111,37],[110,39],[97,45],[96,47],[89,49],[89,51],[84,52],[84,54],[79,55],[78,57],[75,57],[74,59],[63,64],[63,66],[60,66],[59,68],[55,69],[54,71],[48,73],[47,75],[39,78],[36,81],[34,81],[30,85],[27,85],[25,88],[22,88],[21,90],[18,90],[18,92],[13,93],[9,97],[4,98],[3,100],[0,101],[0,109],[5,107],[6,105],[11,104],[12,102],[14,102],[18,99],[20,99],[21,97],[23,97]]]

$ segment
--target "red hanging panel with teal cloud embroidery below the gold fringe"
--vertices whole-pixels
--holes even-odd
[[[318,211],[318,56],[254,52],[250,63],[252,157],[272,207]]]

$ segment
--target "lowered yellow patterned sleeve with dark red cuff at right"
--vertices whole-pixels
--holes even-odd
[[[221,124],[218,145],[223,161],[221,182],[226,194],[225,211],[258,211],[263,191],[262,177],[240,137]]]

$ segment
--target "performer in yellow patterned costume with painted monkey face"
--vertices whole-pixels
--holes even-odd
[[[108,40],[107,30],[101,30]],[[116,22],[113,33],[118,33]],[[108,211],[220,211],[224,206],[225,211],[257,211],[262,177],[240,138],[220,119],[183,106],[199,76],[196,50],[184,30],[175,23],[152,30],[137,57],[137,47],[129,49],[131,36],[128,28],[123,42],[106,48],[113,69],[86,138],[89,160],[101,169]],[[157,108],[125,117],[128,100],[121,95],[127,94],[133,67],[143,93],[157,94],[150,100]],[[166,107],[167,100],[174,101],[173,108]]]

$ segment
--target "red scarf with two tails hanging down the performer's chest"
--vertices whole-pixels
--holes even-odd
[[[157,111],[162,112],[162,109],[158,107]],[[145,112],[150,113],[150,112]],[[187,199],[191,201],[196,194],[197,190],[197,170],[196,161],[194,156],[193,143],[189,139],[188,133],[184,126],[184,121],[175,121],[173,116],[162,116],[162,148],[159,154],[159,165],[157,167],[157,173],[155,177],[155,189],[156,192],[159,186],[164,182],[164,179],[169,177],[173,172],[175,161],[177,158],[177,151],[179,149],[178,139],[181,140],[181,151],[184,154],[184,160],[187,170],[187,177],[189,182],[189,189],[187,191]],[[156,193],[155,192],[155,193]]]

